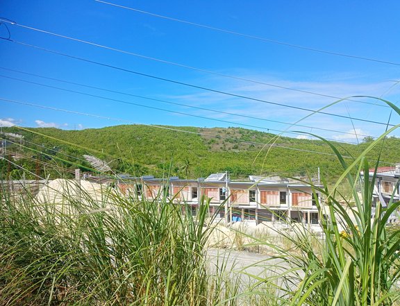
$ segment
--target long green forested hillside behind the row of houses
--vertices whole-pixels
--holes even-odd
[[[5,133],[17,133],[24,138],[16,139]],[[244,128],[126,125],[60,130],[14,127],[3,128],[1,137],[8,139],[6,152],[3,152],[8,157],[1,160],[3,178],[10,173],[14,178],[21,177],[21,167],[28,170],[26,178],[60,176],[63,172],[60,169],[90,171],[84,154],[109,162],[117,173],[134,176],[171,173],[198,178],[229,171],[233,178],[249,174],[315,177],[320,167],[322,176],[331,181],[340,173],[333,151],[321,140],[279,137]],[[350,162],[350,157],[360,153],[371,140],[365,139],[358,145],[335,145],[343,155],[349,156]],[[376,159],[381,153],[383,162],[400,162],[399,144],[398,138],[385,139],[383,146],[375,149],[370,157]]]

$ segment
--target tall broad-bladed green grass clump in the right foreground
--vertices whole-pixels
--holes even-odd
[[[292,248],[258,239],[258,243],[275,250],[277,255],[272,259],[281,260],[278,267],[266,266],[266,269],[281,269],[281,273],[274,278],[258,278],[259,284],[279,280],[276,288],[281,292],[281,304],[400,305],[400,231],[399,228],[387,231],[387,221],[399,210],[400,202],[393,201],[393,196],[387,205],[377,202],[372,214],[378,162],[370,166],[365,158],[367,151],[381,139],[350,165],[328,143],[338,155],[343,175],[332,189],[325,182],[322,186],[313,185],[313,193],[324,198],[317,203],[319,214],[330,215],[329,219],[322,219],[321,237],[307,226],[289,223],[291,232],[277,232],[291,242]],[[370,167],[375,169],[371,180]],[[351,198],[338,192],[342,179],[351,186]]]

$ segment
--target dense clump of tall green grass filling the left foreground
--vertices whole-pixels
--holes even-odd
[[[75,187],[74,187],[75,188]],[[197,218],[167,201],[64,190],[63,203],[10,198],[0,208],[0,305],[214,305],[224,300]],[[74,189],[76,190],[76,189]],[[214,299],[214,300],[213,300]]]

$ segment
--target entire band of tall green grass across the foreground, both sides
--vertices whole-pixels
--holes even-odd
[[[322,236],[288,223],[291,231],[277,230],[285,245],[250,237],[251,246],[274,250],[264,262],[269,276],[242,270],[254,284],[227,274],[226,262],[210,269],[204,201],[194,219],[167,198],[113,189],[99,198],[76,185],[57,203],[1,192],[0,305],[399,305],[400,230],[388,231],[387,220],[400,202],[376,203],[372,217],[379,162],[366,158],[394,128],[351,164],[327,142],[343,173],[333,187],[312,185],[314,198],[324,198],[319,215],[330,216],[321,220]],[[340,193],[344,180],[351,196]],[[244,236],[235,242],[247,247]]]

